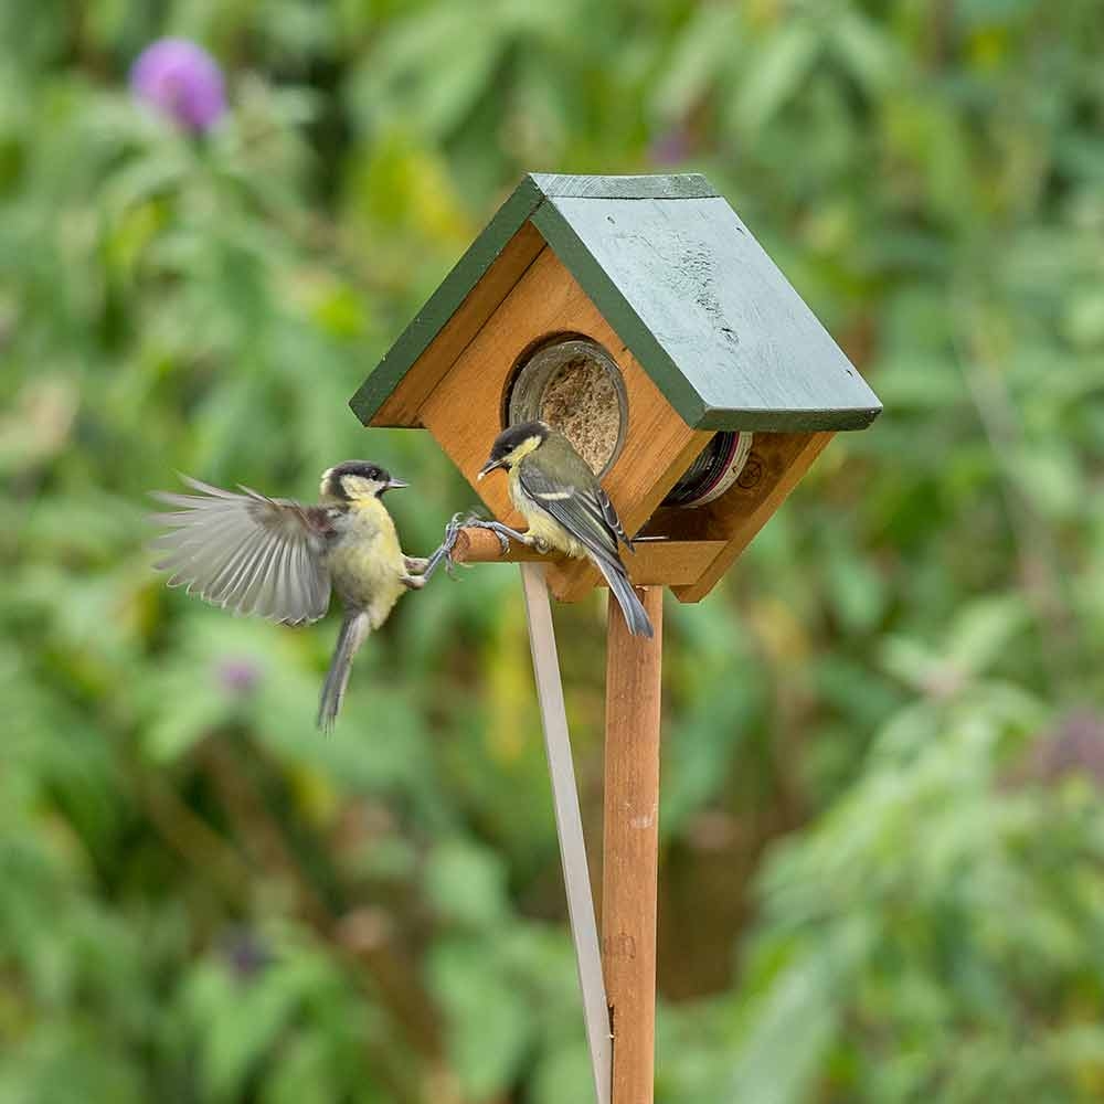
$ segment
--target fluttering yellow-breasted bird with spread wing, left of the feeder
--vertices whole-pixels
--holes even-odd
[[[406,590],[425,584],[427,561],[403,555],[383,495],[405,487],[375,464],[346,460],[322,473],[318,506],[267,498],[241,487],[221,490],[181,477],[198,495],[156,491],[177,507],[153,520],[170,527],[153,541],[166,552],[155,564],[183,586],[235,614],[283,625],[325,616],[330,590],[344,614],[322,686],[318,726],[333,728],[352,657]]]

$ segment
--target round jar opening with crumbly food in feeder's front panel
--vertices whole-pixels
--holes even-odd
[[[604,476],[620,454],[628,425],[617,362],[588,338],[541,346],[516,372],[507,401],[511,425],[534,418],[559,429]]]

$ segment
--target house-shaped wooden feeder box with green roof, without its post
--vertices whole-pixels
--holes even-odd
[[[477,481],[507,424],[519,365],[585,338],[627,401],[602,482],[629,533],[638,585],[697,602],[716,584],[837,429],[881,410],[832,339],[704,178],[530,176],[352,400],[373,426],[429,429],[491,513],[522,526],[503,477]],[[718,431],[754,433],[729,490],[661,503]],[[601,582],[550,565],[573,601]]]

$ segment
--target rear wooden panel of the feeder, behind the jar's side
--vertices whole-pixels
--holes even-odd
[[[724,542],[723,551],[697,582],[673,587],[680,602],[700,602],[709,594],[832,436],[830,433],[756,434],[740,478],[715,502],[693,510],[665,508],[656,512],[646,533],[661,533],[679,541]]]

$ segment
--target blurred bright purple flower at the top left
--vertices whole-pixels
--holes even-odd
[[[130,91],[195,134],[210,130],[226,109],[222,71],[187,39],[161,39],[147,46],[130,68]]]

